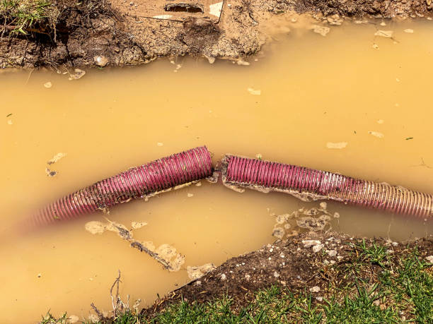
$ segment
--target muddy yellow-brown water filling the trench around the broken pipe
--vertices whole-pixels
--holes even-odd
[[[249,66],[180,58],[92,70],[80,80],[64,69],[1,74],[2,323],[35,322],[49,309],[88,318],[91,302],[110,311],[117,270],[123,299],[149,305],[188,281],[187,266],[253,251],[275,240],[277,215],[319,206],[202,181],[110,215],[17,230],[38,205],[173,152],[206,144],[214,161],[226,152],[260,154],[433,193],[433,25],[346,24],[325,37],[295,25],[280,29]],[[374,36],[379,29],[393,38]],[[47,165],[59,152],[67,155]],[[328,210],[340,217],[327,228],[348,234],[433,233],[431,221],[338,203]],[[115,233],[86,232],[87,222],[105,217],[128,228],[146,222],[134,237],[173,246],[185,263],[168,272]],[[286,232],[301,230],[296,224]]]

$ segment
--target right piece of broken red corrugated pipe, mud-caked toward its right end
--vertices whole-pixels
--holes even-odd
[[[332,199],[417,217],[433,216],[432,195],[399,186],[235,155],[226,155],[222,167],[224,184],[229,186]]]

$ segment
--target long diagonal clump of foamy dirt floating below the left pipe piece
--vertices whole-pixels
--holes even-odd
[[[170,244],[162,244],[156,248],[151,241],[138,241],[134,239],[133,230],[144,227],[146,222],[132,222],[132,229],[127,229],[125,225],[117,222],[98,222],[91,221],[85,224],[85,229],[91,234],[103,234],[105,231],[115,232],[118,236],[129,243],[132,248],[137,248],[140,252],[149,254],[158,263],[161,263],[164,268],[169,271],[179,271],[180,267],[185,263],[185,256],[178,253],[178,251]]]

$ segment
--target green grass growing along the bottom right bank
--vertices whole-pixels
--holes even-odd
[[[248,296],[243,306],[230,296],[207,303],[177,301],[150,318],[126,311],[104,323],[433,323],[432,264],[417,248],[397,257],[385,246],[362,241],[350,262],[333,270],[344,284],[331,282],[319,294],[321,301],[308,287],[291,292],[272,286]],[[63,323],[47,318],[52,321],[42,323]]]

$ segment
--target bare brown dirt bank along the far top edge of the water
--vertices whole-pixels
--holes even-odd
[[[145,0],[61,1],[53,6],[57,20],[23,28],[25,34],[11,33],[16,26],[7,25],[0,10],[0,67],[125,66],[187,54],[210,61],[238,58],[260,50],[267,22],[294,14],[311,13],[324,24],[342,17],[433,16],[429,0],[230,0],[222,4],[217,20],[205,13],[203,18],[200,13],[176,20],[148,18],[140,11]],[[323,18],[333,15],[338,17]]]

